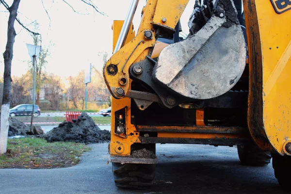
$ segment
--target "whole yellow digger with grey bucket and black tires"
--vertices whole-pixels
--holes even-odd
[[[114,182],[148,188],[155,144],[237,146],[245,165],[273,158],[278,183],[291,175],[291,0],[147,0],[140,26],[113,21],[103,69],[112,98]]]

